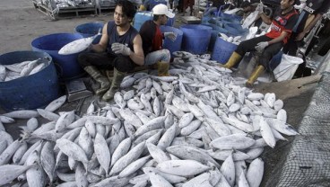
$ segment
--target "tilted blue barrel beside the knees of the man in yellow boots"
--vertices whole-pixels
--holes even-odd
[[[226,64],[237,47],[237,45],[218,37],[214,44],[211,59],[216,60],[221,64]]]

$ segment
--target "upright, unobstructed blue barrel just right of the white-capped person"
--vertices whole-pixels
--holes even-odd
[[[206,53],[212,33],[212,27],[201,24],[185,24],[180,26],[183,31],[181,49],[199,55]]]

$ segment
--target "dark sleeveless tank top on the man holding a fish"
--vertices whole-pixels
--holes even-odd
[[[111,45],[112,43],[123,43],[128,48],[130,48],[132,51],[133,49],[133,40],[135,39],[136,34],[139,32],[135,30],[134,27],[130,26],[128,31],[126,31],[125,34],[119,35],[117,32],[117,25],[114,21],[108,22],[108,30],[107,30],[108,36],[109,36],[109,42],[107,51],[111,54],[115,54],[112,52]]]

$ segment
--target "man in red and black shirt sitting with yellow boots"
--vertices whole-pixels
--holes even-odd
[[[234,67],[247,52],[257,51],[260,54],[259,65],[247,79],[247,87],[253,86],[256,78],[264,72],[265,67],[268,67],[269,61],[282,49],[283,44],[290,38],[292,28],[298,19],[298,13],[293,8],[296,1],[298,0],[282,0],[281,8],[276,10],[273,20],[265,15],[263,4],[259,4],[256,7],[263,22],[271,24],[270,31],[263,36],[242,41],[224,65],[227,68]]]

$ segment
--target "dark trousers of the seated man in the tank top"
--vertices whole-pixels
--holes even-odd
[[[78,56],[81,67],[94,66],[100,69],[112,70],[114,67],[120,72],[129,72],[135,68],[135,63],[129,57],[114,56],[109,53],[82,53]]]

